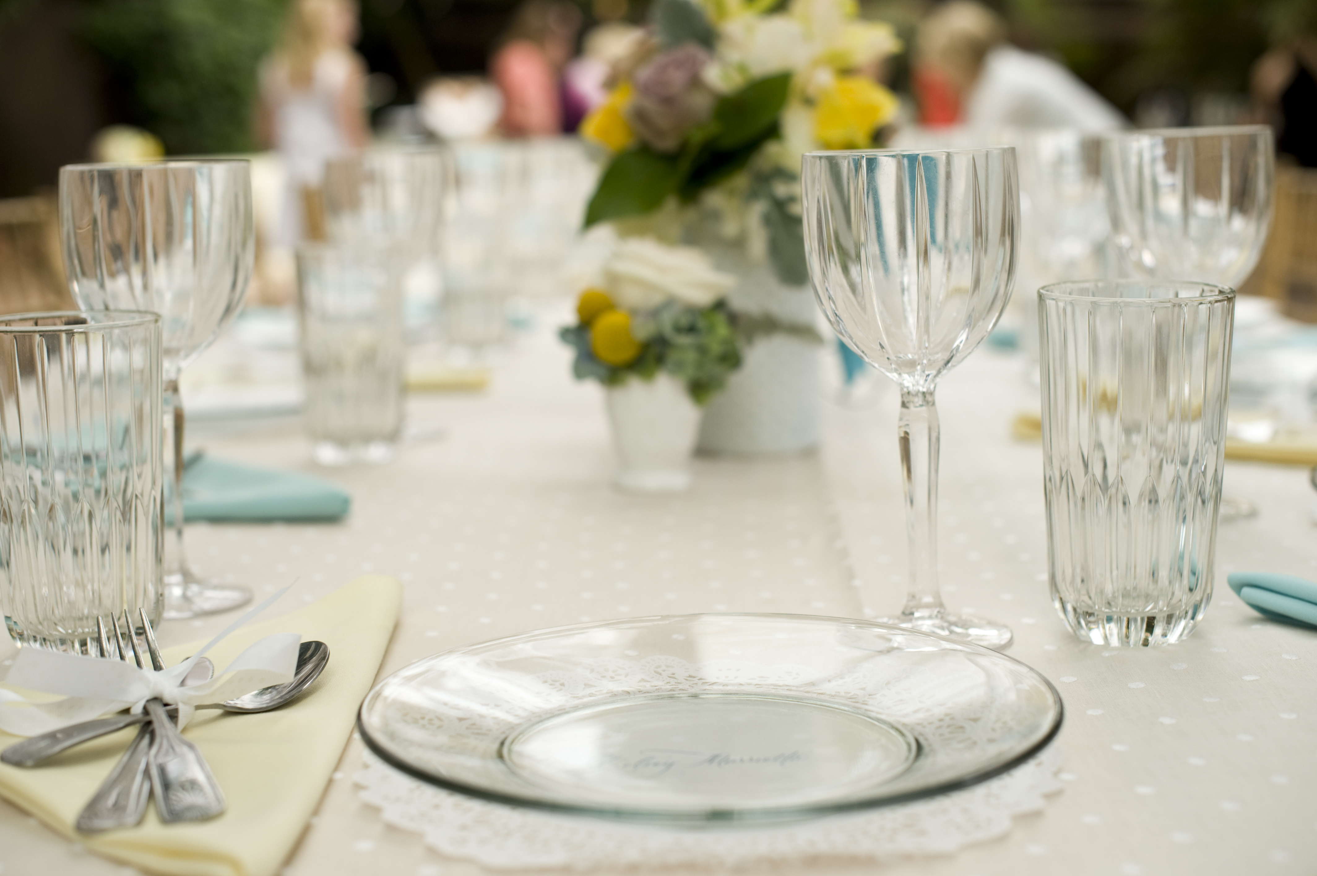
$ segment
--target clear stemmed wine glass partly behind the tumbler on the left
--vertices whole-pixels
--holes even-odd
[[[183,549],[182,369],[242,306],[255,257],[246,161],[70,165],[59,171],[59,224],[74,298],[86,310],[162,317],[166,425],[173,445],[173,537],[165,618],[236,609],[246,588],[198,580]]]

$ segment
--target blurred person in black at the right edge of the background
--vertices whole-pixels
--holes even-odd
[[[1276,130],[1276,151],[1317,167],[1317,34],[1289,37],[1252,67],[1252,97]]]

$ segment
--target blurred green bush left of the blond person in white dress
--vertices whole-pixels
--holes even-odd
[[[88,0],[82,37],[126,95],[129,121],[173,154],[253,148],[257,65],[286,0]]]

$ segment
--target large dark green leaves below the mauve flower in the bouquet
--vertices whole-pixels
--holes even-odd
[[[676,155],[644,145],[618,153],[590,199],[586,228],[648,213],[673,195],[691,202],[745,167],[755,151],[777,136],[790,82],[789,72],[765,76],[722,97],[712,117],[690,132]]]

